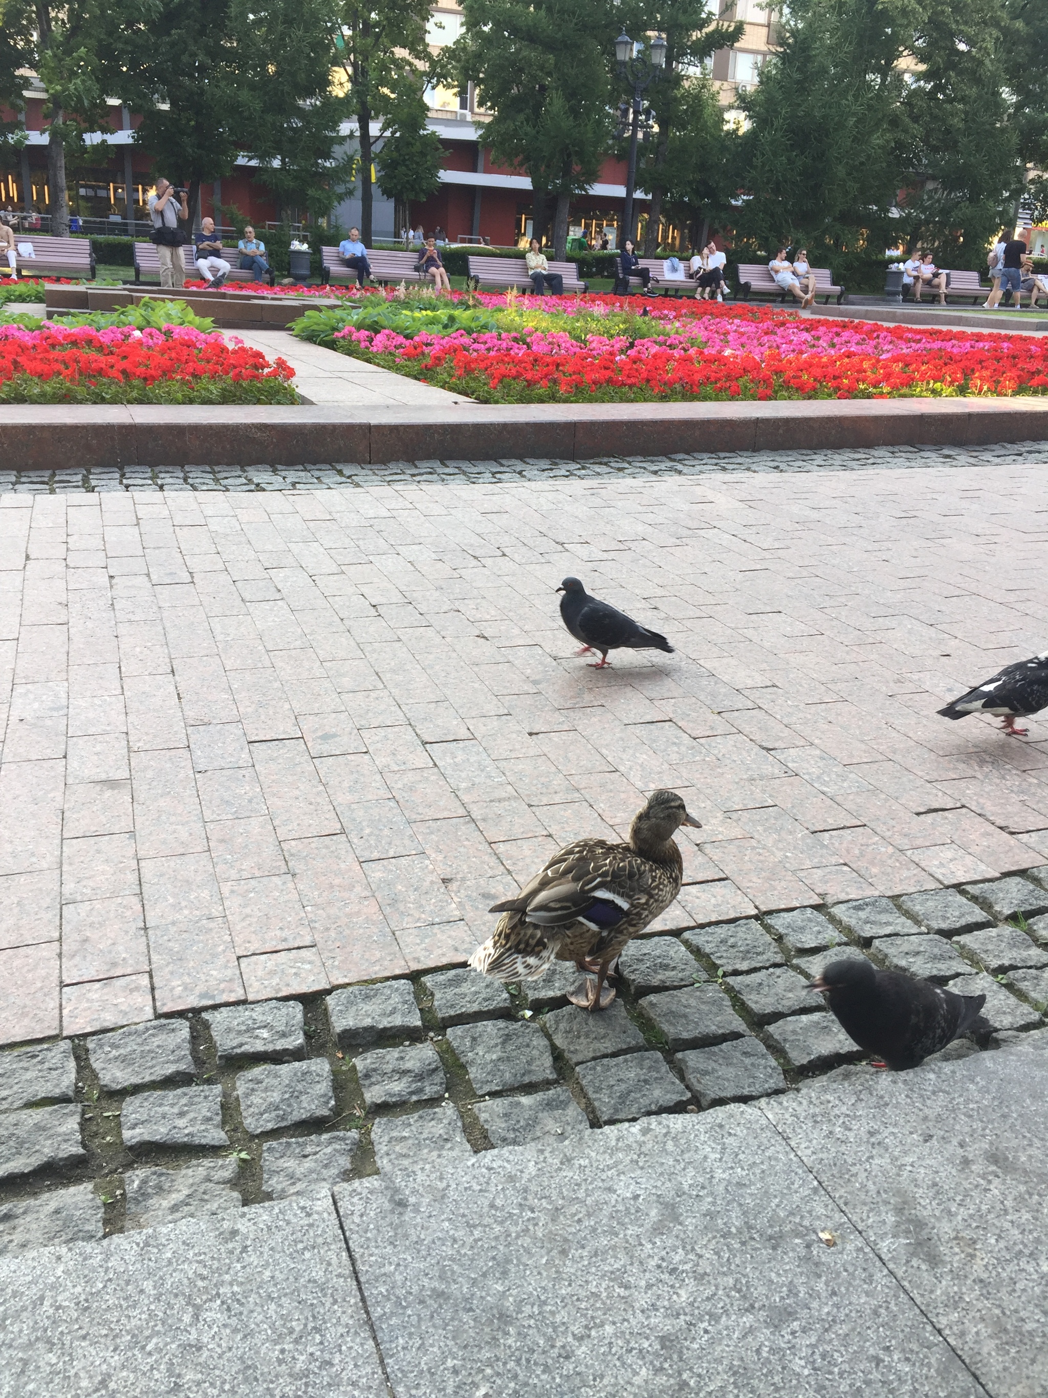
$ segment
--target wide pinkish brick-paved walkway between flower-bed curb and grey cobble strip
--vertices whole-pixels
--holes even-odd
[[[654,931],[1041,865],[1048,730],[933,710],[1045,644],[1045,456],[0,493],[0,1043],[461,965],[660,786]],[[566,573],[676,654],[573,658]]]

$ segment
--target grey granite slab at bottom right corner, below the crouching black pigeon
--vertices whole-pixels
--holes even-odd
[[[1048,1055],[1007,1048],[760,1104],[995,1398],[1048,1376],[1047,1092]]]

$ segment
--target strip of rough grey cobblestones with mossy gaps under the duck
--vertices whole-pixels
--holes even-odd
[[[566,1002],[573,966],[461,969],[8,1051],[0,1255],[789,1090],[862,1057],[808,988],[838,956],[985,993],[975,1042],[938,1057],[1000,1047],[1044,1023],[1047,888],[1044,867],[639,939],[598,1015]]]

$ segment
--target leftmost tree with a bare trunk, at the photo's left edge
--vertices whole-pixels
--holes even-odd
[[[49,4],[10,0],[0,4],[0,99],[22,110],[28,69],[48,92],[48,187],[52,232],[68,235],[66,147],[81,140],[80,129],[103,124],[105,92],[99,82],[99,6],[95,0]]]

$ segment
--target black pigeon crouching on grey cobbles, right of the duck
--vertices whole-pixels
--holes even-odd
[[[878,970],[858,956],[830,962],[812,990],[826,991],[841,1029],[859,1048],[896,1071],[915,1068],[966,1033],[985,995],[956,995],[897,970]]]

